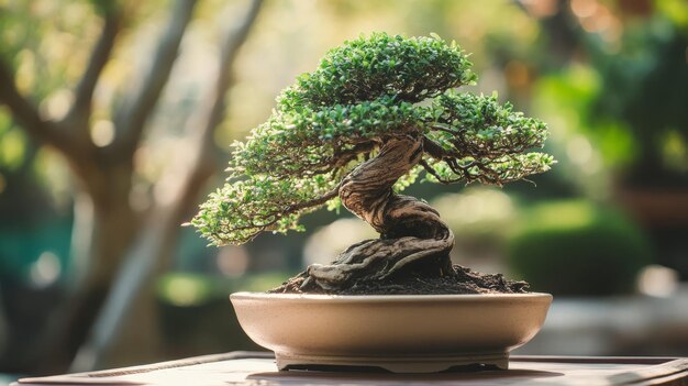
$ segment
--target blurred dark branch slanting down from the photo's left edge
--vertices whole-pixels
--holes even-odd
[[[76,143],[53,121],[45,121],[24,96],[21,95],[14,82],[14,76],[9,66],[0,59],[0,104],[5,104],[14,119],[36,142],[55,147],[68,159],[75,159],[79,154]]]

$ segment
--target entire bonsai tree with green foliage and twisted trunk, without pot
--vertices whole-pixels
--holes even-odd
[[[455,42],[439,36],[375,33],[345,42],[281,92],[247,142],[233,145],[228,183],[191,223],[213,244],[241,244],[264,231],[301,230],[300,216],[343,205],[380,233],[277,291],[369,291],[409,277],[477,280],[452,266],[454,235],[437,211],[400,191],[421,174],[440,184],[501,186],[554,161],[528,152],[543,146],[543,122],[496,96],[455,90],[476,80],[470,66]],[[523,287],[506,286],[500,275],[482,286],[496,284]]]

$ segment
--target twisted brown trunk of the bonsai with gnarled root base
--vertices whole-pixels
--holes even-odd
[[[362,282],[389,279],[410,271],[431,276],[455,274],[448,256],[454,234],[437,211],[392,190],[422,154],[422,137],[393,139],[377,157],[344,178],[340,187],[342,203],[375,228],[380,239],[349,246],[330,265],[309,266],[301,274],[302,290],[352,288]],[[411,266],[413,269],[408,269]]]

